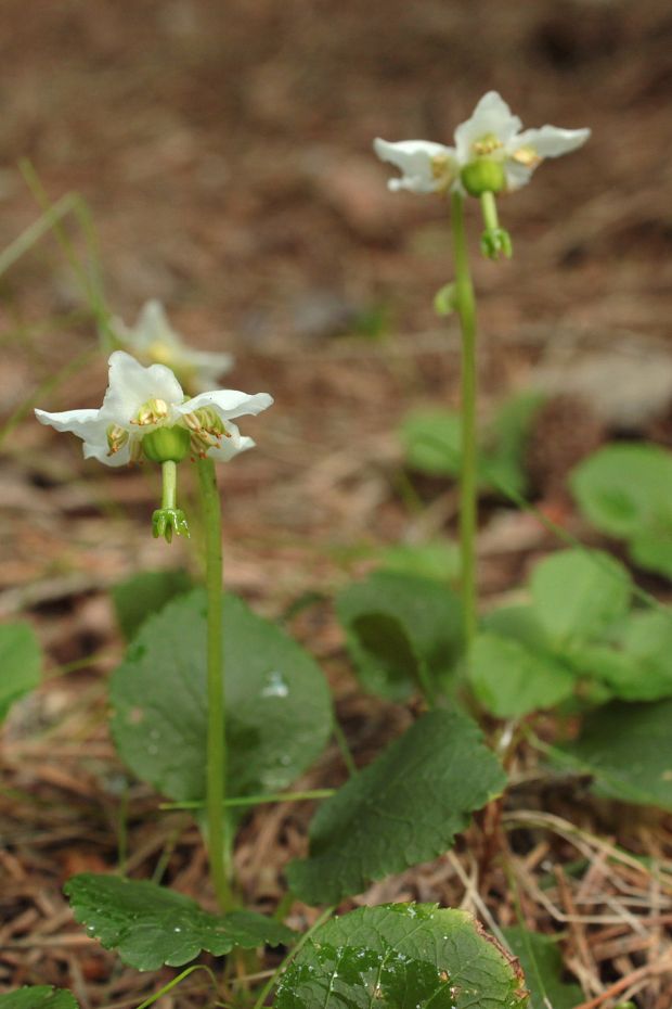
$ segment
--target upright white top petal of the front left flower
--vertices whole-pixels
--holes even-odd
[[[144,368],[125,350],[111,355],[109,385],[101,408],[106,423],[129,429],[132,418],[147,399],[163,399],[175,406],[183,398],[182,386],[165,365]]]

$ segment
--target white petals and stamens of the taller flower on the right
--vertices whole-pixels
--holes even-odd
[[[590,129],[560,129],[542,126],[521,131],[518,116],[512,115],[496,91],[488,91],[466,123],[455,130],[454,146],[428,140],[402,140],[389,143],[379,138],[374,150],[379,158],[401,171],[390,179],[391,190],[414,193],[464,192],[464,170],[482,162],[501,166],[504,189],[520,189],[545,157],[558,157],[580,148],[591,136]],[[467,186],[468,188],[468,186]]]

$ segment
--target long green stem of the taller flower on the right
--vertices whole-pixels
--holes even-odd
[[[476,304],[464,233],[464,196],[451,197],[451,228],[455,260],[455,307],[462,329],[462,461],[460,473],[460,551],[464,637],[476,634]]]

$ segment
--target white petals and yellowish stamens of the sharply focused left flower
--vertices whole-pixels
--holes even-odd
[[[191,449],[193,455],[228,461],[255,444],[240,433],[233,418],[260,413],[272,403],[268,393],[249,396],[235,389],[215,389],[189,399],[170,368],[144,368],[130,354],[115,350],[100,410],[35,413],[40,423],[81,438],[85,459],[118,467],[145,455],[154,459],[155,450],[150,451],[148,446],[158,439],[150,438],[144,449],[142,443],[158,430],[175,433],[176,437],[167,440],[183,446],[182,457]],[[165,435],[160,438],[165,440]]]

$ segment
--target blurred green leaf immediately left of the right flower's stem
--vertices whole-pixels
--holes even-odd
[[[447,410],[409,413],[399,431],[408,465],[431,476],[457,476],[462,456],[462,421]]]

